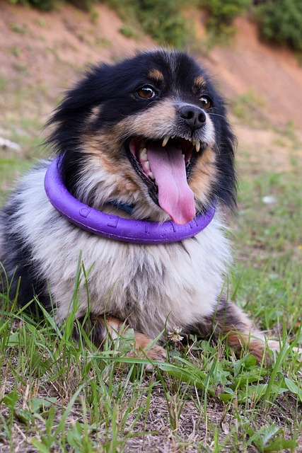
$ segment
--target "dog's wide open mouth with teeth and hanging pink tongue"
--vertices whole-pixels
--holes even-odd
[[[196,214],[187,178],[192,156],[199,148],[199,142],[179,137],[165,137],[163,141],[135,137],[129,142],[132,166],[148,186],[152,200],[175,224],[186,224]]]

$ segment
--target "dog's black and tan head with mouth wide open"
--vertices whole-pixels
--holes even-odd
[[[233,205],[234,136],[197,62],[156,50],[93,67],[54,113],[50,137],[67,187],[88,205],[134,205],[134,217],[190,222]]]

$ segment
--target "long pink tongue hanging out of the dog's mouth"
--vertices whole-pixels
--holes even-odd
[[[158,202],[173,222],[187,224],[196,214],[194,194],[187,185],[185,159],[180,149],[169,144],[152,144],[148,147],[148,159],[156,184]]]

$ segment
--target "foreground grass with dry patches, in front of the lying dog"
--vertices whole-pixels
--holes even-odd
[[[118,353],[129,351],[131,338],[99,352],[72,340],[73,316],[59,331],[52,319],[33,323],[4,299],[0,442],[7,451],[20,442],[38,452],[122,452],[141,440],[155,448],[163,431],[180,452],[294,447],[302,401],[295,358],[265,368],[192,338],[190,348],[170,346],[173,362],[147,373],[148,360]],[[277,414],[289,421],[276,423]]]

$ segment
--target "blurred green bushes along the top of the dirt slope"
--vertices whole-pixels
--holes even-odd
[[[60,0],[10,0],[30,4],[43,11],[55,8]],[[91,10],[98,0],[68,0]],[[160,44],[185,47],[192,30],[183,16],[188,6],[204,11],[211,35],[231,35],[233,19],[248,13],[257,21],[265,40],[302,51],[302,3],[296,0],[99,0],[115,9],[122,18],[137,21],[145,33]],[[128,30],[129,31],[129,30]],[[129,32],[130,33],[130,32]]]

